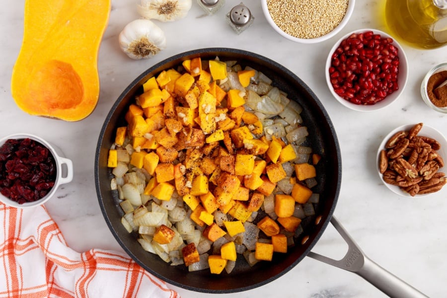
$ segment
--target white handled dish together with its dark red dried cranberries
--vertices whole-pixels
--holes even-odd
[[[73,162],[30,134],[0,140],[0,202],[28,208],[47,202],[61,184],[73,179]]]

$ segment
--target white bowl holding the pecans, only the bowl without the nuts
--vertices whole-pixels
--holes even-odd
[[[380,173],[379,160],[380,160],[380,151],[382,149],[385,149],[385,144],[386,144],[386,142],[388,142],[389,138],[391,138],[397,132],[409,131],[413,126],[414,126],[414,124],[409,124],[409,125],[403,125],[403,126],[393,129],[385,138],[383,138],[383,141],[382,141],[382,143],[380,143],[380,145],[377,149],[377,154],[376,154],[377,174],[379,175],[380,180],[393,193],[398,194],[399,196],[402,196],[402,197],[407,197],[407,198],[424,197],[424,196],[428,196],[430,194],[415,195],[414,197],[412,197],[410,194],[408,194],[407,192],[400,189],[400,187],[385,182],[383,180],[383,175]],[[442,133],[440,133],[438,130],[436,130],[433,127],[423,125],[418,136],[425,136],[425,137],[429,137],[429,138],[432,138],[432,139],[435,139],[436,141],[438,141],[441,144],[441,149],[437,150],[437,153],[440,154],[444,160],[447,160],[447,140]],[[445,171],[440,169],[439,172],[445,172]],[[444,191],[445,188],[447,188],[447,186],[444,186],[440,191]]]

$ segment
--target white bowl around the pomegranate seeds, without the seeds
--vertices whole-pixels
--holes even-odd
[[[382,37],[388,37],[388,38],[393,39],[393,45],[398,49],[398,55],[399,55],[399,73],[397,75],[397,82],[399,85],[399,89],[394,91],[393,93],[387,95],[383,100],[381,100],[373,105],[361,105],[361,104],[352,103],[352,102],[342,98],[337,93],[335,93],[334,87],[332,86],[332,83],[330,81],[329,68],[331,66],[332,54],[336,51],[336,49],[339,47],[339,45],[341,44],[341,42],[343,40],[347,39],[349,36],[351,36],[354,33],[364,33],[364,32],[368,32],[368,31],[373,31],[374,34],[380,34]],[[400,44],[389,34],[383,32],[383,31],[380,31],[380,30],[376,30],[376,29],[368,29],[368,28],[367,29],[358,29],[358,30],[352,31],[352,32],[344,35],[342,38],[340,38],[334,44],[332,49],[329,51],[329,55],[326,60],[326,66],[325,66],[324,71],[325,71],[325,76],[326,76],[326,83],[329,87],[329,90],[331,91],[332,95],[342,105],[344,105],[345,107],[348,107],[352,110],[355,110],[355,111],[371,112],[371,111],[377,111],[377,110],[380,110],[382,108],[389,106],[390,104],[395,102],[399,98],[399,96],[402,94],[402,92],[405,88],[405,85],[407,84],[407,79],[408,79],[408,61],[407,61],[405,52],[402,49],[402,47],[400,46]]]

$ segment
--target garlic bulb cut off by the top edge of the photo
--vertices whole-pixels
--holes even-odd
[[[141,0],[138,12],[147,19],[170,22],[186,16],[191,0]]]

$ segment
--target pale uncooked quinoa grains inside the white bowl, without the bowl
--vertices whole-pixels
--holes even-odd
[[[340,24],[349,0],[267,0],[275,24],[298,38],[323,36]]]

